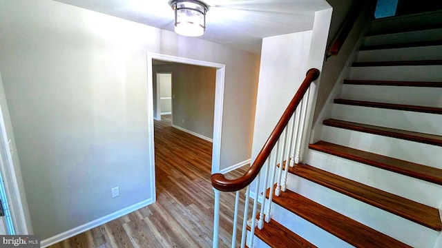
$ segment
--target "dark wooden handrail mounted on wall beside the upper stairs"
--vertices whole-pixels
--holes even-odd
[[[327,58],[338,55],[340,48],[342,48],[350,31],[352,31],[354,23],[356,23],[356,20],[363,12],[366,3],[369,3],[370,1],[371,0],[366,0],[364,3],[361,3],[361,1],[354,1],[352,8],[349,10],[349,14],[347,14],[347,17],[345,18],[343,25],[336,36],[336,39],[334,39],[334,43],[332,43],[330,48],[327,50]]]

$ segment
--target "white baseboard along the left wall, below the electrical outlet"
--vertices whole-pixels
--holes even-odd
[[[118,211],[113,212],[112,214],[108,214],[107,216],[103,216],[102,218],[97,218],[96,220],[92,220],[89,223],[86,223],[84,225],[80,225],[79,227],[75,227],[73,229],[70,229],[68,231],[64,231],[61,234],[57,234],[55,236],[52,236],[50,238],[46,238],[45,240],[42,240],[40,243],[41,247],[48,247],[50,245],[54,245],[57,242],[60,242],[62,240],[65,240],[66,238],[73,237],[77,234],[81,234],[84,231],[88,231],[90,229],[93,229],[94,227],[98,227],[100,225],[106,224],[111,220],[115,220],[116,218],[125,216],[126,214],[129,214],[135,210],[138,210],[142,207],[146,207],[147,205],[150,205],[153,203],[153,198],[143,200],[140,203],[135,203],[134,205],[131,205],[129,207],[126,207],[124,209],[120,209]]]

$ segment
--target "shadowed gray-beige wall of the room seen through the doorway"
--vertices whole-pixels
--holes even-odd
[[[213,138],[216,69],[174,63],[153,70],[172,72],[173,125]]]

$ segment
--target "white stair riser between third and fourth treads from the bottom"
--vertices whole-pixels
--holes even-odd
[[[430,207],[439,208],[442,203],[441,185],[429,183],[425,180],[350,161],[313,149],[309,149],[309,155],[305,163]]]

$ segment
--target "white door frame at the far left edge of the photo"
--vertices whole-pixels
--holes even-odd
[[[1,74],[0,98],[6,99]],[[10,122],[8,106],[6,105],[6,101],[0,101],[0,169],[3,176],[3,186],[10,205],[9,210],[12,216],[12,223],[15,227],[15,234],[32,234],[30,220],[25,214],[25,209],[28,209],[28,203],[26,203],[26,200],[22,200],[24,197],[22,198],[20,194],[21,192],[24,194],[21,171],[19,165],[14,166],[14,163],[18,163],[17,154],[11,152],[11,148],[13,148],[15,144],[15,138],[14,134],[12,134],[12,130],[10,130],[8,134],[6,121]]]

